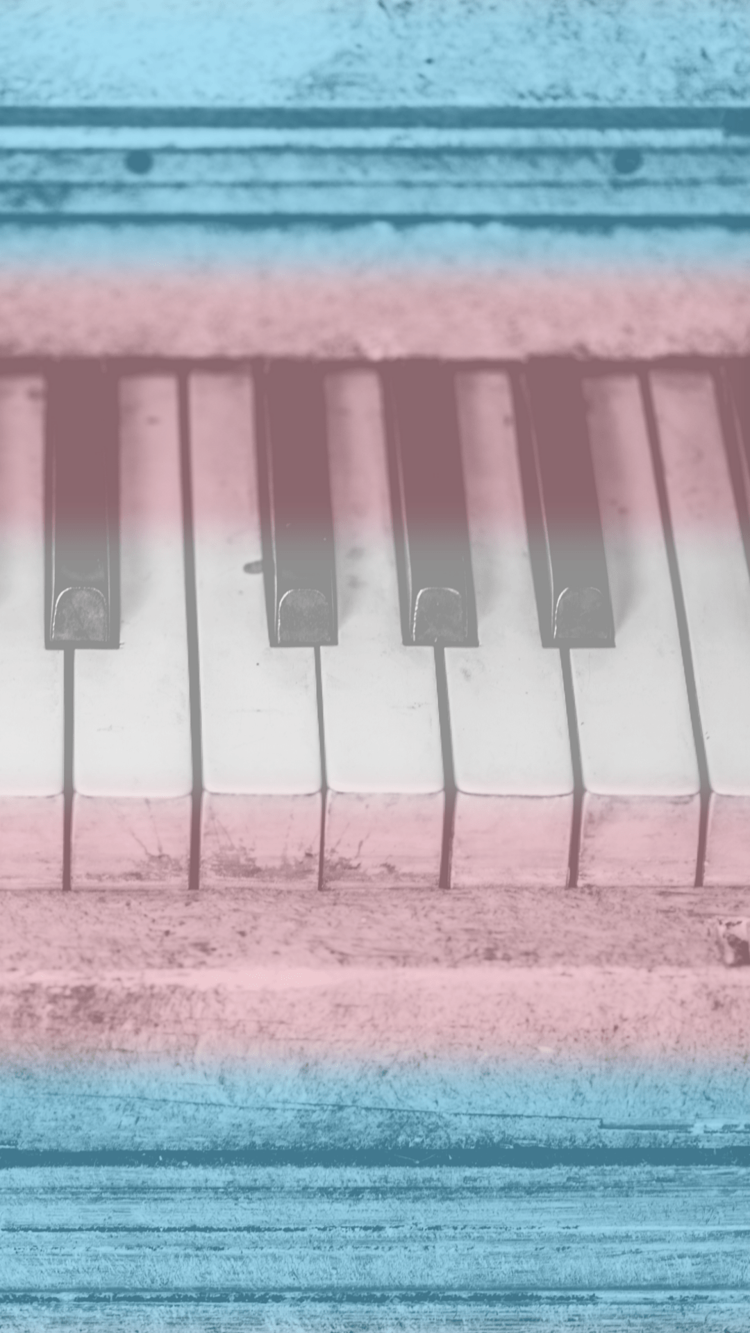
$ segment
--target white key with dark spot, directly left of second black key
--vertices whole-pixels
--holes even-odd
[[[203,732],[202,884],[318,886],[315,652],[271,648],[252,383],[190,381]],[[255,564],[256,573],[243,567]]]

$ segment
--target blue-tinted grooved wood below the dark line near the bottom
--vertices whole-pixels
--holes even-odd
[[[750,1288],[737,1168],[31,1166],[0,1226],[13,1329],[734,1330]]]

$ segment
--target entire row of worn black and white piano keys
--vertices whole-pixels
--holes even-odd
[[[746,882],[742,375],[562,373],[5,367],[0,885]]]

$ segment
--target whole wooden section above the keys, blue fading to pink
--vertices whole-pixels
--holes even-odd
[[[7,5],[0,352],[747,351],[746,37],[743,0]]]

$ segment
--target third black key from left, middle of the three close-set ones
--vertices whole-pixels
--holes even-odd
[[[452,372],[404,361],[386,391],[404,643],[466,644],[475,617]]]

